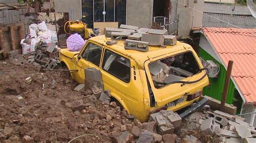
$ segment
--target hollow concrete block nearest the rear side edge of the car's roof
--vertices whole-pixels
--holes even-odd
[[[124,42],[124,48],[147,52],[149,51],[149,42],[126,39]]]

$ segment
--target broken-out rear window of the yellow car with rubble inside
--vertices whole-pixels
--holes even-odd
[[[160,88],[193,76],[200,68],[194,55],[186,52],[151,62],[149,69],[154,87]]]

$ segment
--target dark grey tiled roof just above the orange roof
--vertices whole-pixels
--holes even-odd
[[[221,19],[227,23],[221,22],[218,19]],[[253,16],[244,16],[244,15],[231,15],[221,14],[221,13],[206,13],[204,12],[203,16],[203,27],[234,27],[238,26],[241,28],[256,28],[256,19]],[[235,25],[235,26],[233,26]]]

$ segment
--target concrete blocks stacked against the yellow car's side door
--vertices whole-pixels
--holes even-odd
[[[94,86],[103,89],[102,75],[96,68],[85,68],[85,90],[92,89]]]

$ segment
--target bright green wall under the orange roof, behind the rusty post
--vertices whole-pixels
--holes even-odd
[[[221,63],[219,63],[210,54],[204,51],[203,48],[199,48],[198,55],[199,57],[203,58],[205,61],[212,60],[213,62],[219,64],[220,72],[219,72],[218,78],[209,77],[210,86],[204,88],[203,95],[207,95],[221,101],[221,96],[223,93],[223,88],[225,83],[226,69],[223,65],[221,65]],[[228,87],[226,103],[233,104],[234,90],[235,90],[235,85],[233,81],[230,80],[230,86]]]

